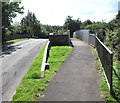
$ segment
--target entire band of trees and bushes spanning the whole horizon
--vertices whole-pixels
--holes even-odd
[[[73,19],[67,16],[63,26],[43,25],[37,19],[36,15],[28,11],[27,15],[21,19],[20,23],[12,24],[12,19],[17,14],[23,14],[24,7],[20,7],[20,2],[2,2],[2,40],[5,42],[6,35],[30,34],[31,37],[48,37],[48,34],[54,32],[63,34],[70,30],[70,34],[76,30],[87,29],[90,33],[96,34],[104,42],[115,56],[120,60],[120,12],[110,22],[92,22],[86,20],[82,22],[79,18]]]

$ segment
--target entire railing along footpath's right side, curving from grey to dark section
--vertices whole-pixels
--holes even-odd
[[[88,34],[88,30],[79,30],[74,32],[73,37],[79,38],[82,41],[89,43],[96,47],[98,56],[100,58],[104,74],[110,93],[112,93],[112,70],[113,70],[113,53],[99,40],[94,34]]]

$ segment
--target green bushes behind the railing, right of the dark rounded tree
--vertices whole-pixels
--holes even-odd
[[[86,26],[84,26],[84,23],[82,24],[82,29],[90,30],[91,33],[97,35],[98,38],[114,52],[117,60],[120,61],[120,11],[116,17],[108,23],[104,21],[90,22],[89,20]]]

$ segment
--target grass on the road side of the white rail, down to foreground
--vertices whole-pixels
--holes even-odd
[[[36,79],[40,78],[40,67],[44,49],[45,46],[42,48],[35,61],[32,63],[30,69],[23,77],[20,85],[16,88],[13,101],[33,101],[35,100],[35,96],[39,93],[39,91],[41,91],[40,87],[46,87],[46,85],[42,83],[42,79]]]

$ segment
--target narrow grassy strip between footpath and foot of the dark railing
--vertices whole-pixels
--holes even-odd
[[[106,101],[106,103],[110,103],[110,102],[118,103],[113,98],[113,96],[110,95],[109,88],[108,88],[108,85],[107,85],[107,82],[106,82],[106,79],[105,79],[105,76],[104,76],[103,67],[100,63],[97,51],[94,48],[92,48],[92,51],[93,51],[93,53],[95,54],[95,57],[96,57],[96,67],[98,69],[98,74],[99,74],[99,86],[100,86],[100,89],[101,89],[101,95],[103,96],[103,99]]]

